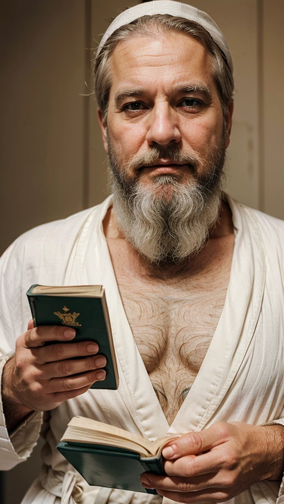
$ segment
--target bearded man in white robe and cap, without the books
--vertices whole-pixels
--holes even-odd
[[[280,504],[284,224],[222,193],[224,37],[193,7],[149,2],[114,20],[95,73],[113,197],[29,231],[2,259],[1,469],[29,456],[45,412],[24,504]],[[117,391],[89,390],[105,377],[97,345],[64,345],[74,331],[62,327],[26,331],[32,283],[104,285]],[[163,451],[167,475],[141,476],[157,495],[89,487],[56,451],[74,415],[183,434]]]

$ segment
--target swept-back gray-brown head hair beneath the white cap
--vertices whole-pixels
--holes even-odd
[[[115,30],[103,45],[94,62],[94,93],[106,124],[109,93],[111,88],[110,59],[119,42],[131,36],[153,36],[157,33],[176,32],[191,36],[208,50],[212,60],[212,75],[217,85],[223,113],[232,100],[233,75],[223,51],[214,42],[210,33],[199,23],[169,14],[142,16]]]

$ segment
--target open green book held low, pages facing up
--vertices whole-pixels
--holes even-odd
[[[162,448],[175,437],[149,441],[113,425],[75,416],[57,449],[89,485],[156,493],[144,488],[139,476],[149,471],[165,474]]]

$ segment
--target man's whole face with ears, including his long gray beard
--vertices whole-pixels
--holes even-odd
[[[151,263],[187,261],[220,212],[225,120],[207,50],[185,35],[133,36],[111,60],[107,124],[113,211]]]

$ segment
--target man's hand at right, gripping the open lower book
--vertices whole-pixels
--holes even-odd
[[[172,440],[162,453],[168,476],[143,474],[146,488],[176,502],[221,502],[282,477],[284,427],[218,422]]]

